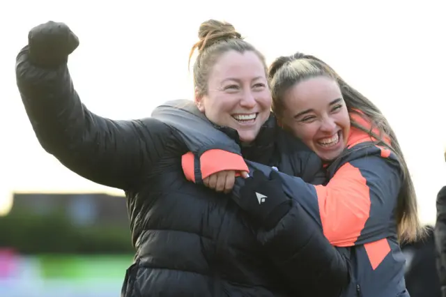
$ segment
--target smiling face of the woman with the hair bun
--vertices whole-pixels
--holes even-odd
[[[222,54],[210,72],[206,94],[195,101],[210,121],[237,130],[241,142],[254,141],[271,108],[263,62],[252,51]]]

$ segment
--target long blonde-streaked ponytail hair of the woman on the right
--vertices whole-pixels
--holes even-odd
[[[348,112],[371,122],[371,127],[366,128],[351,118],[351,125],[378,139],[377,144],[387,146],[397,156],[402,177],[396,217],[399,239],[401,241],[415,241],[422,237],[425,232],[418,218],[415,188],[397,136],[378,107],[362,96],[360,92],[346,84],[344,79],[341,79],[328,64],[315,56],[302,53],[277,58],[270,66],[268,73],[272,92],[272,111],[280,119],[284,111],[284,94],[286,91],[305,79],[318,76],[334,79],[339,84]],[[378,135],[374,131],[378,131]],[[390,139],[390,145],[387,145],[383,137]]]

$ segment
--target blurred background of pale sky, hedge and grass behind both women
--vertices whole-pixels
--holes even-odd
[[[434,0],[2,3],[0,296],[118,297],[133,257],[123,193],[60,165],[40,148],[26,118],[14,67],[33,26],[66,22],[77,34],[81,45],[69,61],[75,87],[91,111],[112,119],[145,117],[166,100],[192,99],[187,57],[199,24],[210,18],[231,22],[268,63],[297,51],[318,56],[387,116],[415,182],[420,218],[432,225],[436,194],[446,185],[441,5]],[[408,269],[420,246],[433,254],[429,241],[411,245]]]

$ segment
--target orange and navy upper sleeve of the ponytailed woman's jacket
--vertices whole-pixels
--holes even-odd
[[[327,185],[315,188],[323,233],[332,245],[347,247],[389,236],[401,176],[384,158],[347,162]]]

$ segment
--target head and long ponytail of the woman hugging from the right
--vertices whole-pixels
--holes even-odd
[[[422,232],[412,178],[397,136],[378,107],[312,55],[281,56],[270,66],[269,76],[277,118],[323,160],[339,160],[345,148],[359,143],[351,128],[395,154],[402,179],[396,209],[398,233],[403,240],[417,238]]]

